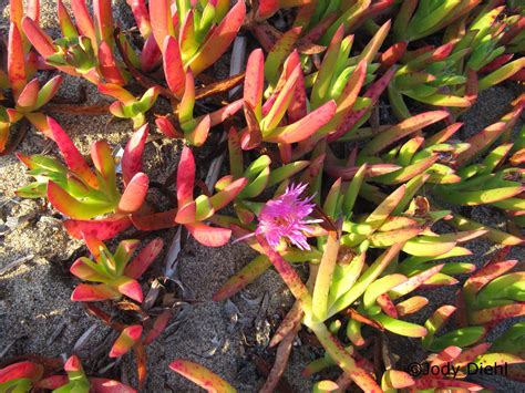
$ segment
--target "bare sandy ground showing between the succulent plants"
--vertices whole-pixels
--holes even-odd
[[[42,24],[54,28],[54,11],[48,1],[43,1],[42,13]],[[6,27],[6,23],[2,25]],[[86,90],[87,102],[84,105],[103,101],[87,82],[71,77],[65,79],[59,95],[75,101],[80,95],[80,85]],[[466,137],[497,120],[505,113],[513,96],[514,92],[506,87],[484,92],[480,103],[464,116],[465,126],[461,136]],[[132,132],[130,123],[110,123],[109,116],[53,116],[84,154],[100,138],[105,138],[114,147],[122,146]],[[54,146],[34,130],[28,133],[19,151],[24,154],[42,151],[56,153]],[[165,139],[148,143],[146,172],[162,183],[176,167],[177,157],[177,143]],[[87,316],[83,307],[70,301],[72,288],[78,281],[68,269],[75,258],[85,252],[82,244],[69,238],[61,229],[60,215],[41,200],[14,197],[14,189],[28,180],[23,166],[14,156],[0,157],[0,269],[27,258],[27,261],[0,276],[0,362],[27,353],[47,356],[76,353],[84,359],[90,373],[103,372],[104,375],[134,383],[131,355],[125,355],[117,364],[106,356],[114,333]],[[487,209],[475,209],[473,216],[497,225],[495,216]],[[174,229],[166,230],[147,235],[147,238],[162,236],[168,244],[174,232]],[[469,247],[474,255],[466,259],[478,266],[494,250],[484,240],[472,241]],[[291,304],[289,292],[279,277],[268,271],[231,301],[216,303],[210,300],[220,285],[253,257],[244,245],[209,249],[193,240],[186,244],[179,257],[179,278],[189,290],[183,293],[171,283],[166,292],[192,301],[189,306],[177,309],[172,320],[175,325],[148,347],[145,391],[197,391],[195,385],[168,370],[167,365],[175,358],[188,358],[210,368],[243,392],[254,392],[262,384],[265,379],[257,372],[254,360],[260,356],[272,361],[272,351],[266,347],[271,332]],[[515,249],[513,257],[523,261],[523,249]],[[161,262],[157,262],[147,273],[148,282],[161,273]],[[443,289],[435,293],[435,299],[441,304],[445,300],[451,302],[453,293],[453,289]],[[432,309],[428,308],[420,319],[431,312]],[[87,340],[81,340],[83,343],[79,348],[79,339],[86,331],[92,333]],[[415,347],[408,341],[402,340],[395,345],[402,358],[401,363],[413,358],[413,354],[411,359],[406,358]],[[292,351],[286,378],[296,391],[307,392],[311,381],[302,379],[300,371],[316,358],[316,351],[299,343]],[[509,391],[521,390],[516,385],[502,386]]]

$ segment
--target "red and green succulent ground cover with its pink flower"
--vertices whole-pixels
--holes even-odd
[[[302,371],[315,392],[490,390],[473,365],[525,382],[523,260],[507,258],[525,242],[525,95],[462,136],[483,91],[523,87],[519,1],[128,0],[132,27],[109,0],[54,7],[60,32],[41,27],[39,0],[10,1],[0,153],[28,168],[18,198],[85,246],[68,266],[71,301],[115,333],[103,349],[111,368],[130,352],[135,371],[124,383],[85,372],[76,353],[28,354],[2,364],[0,392],[147,391],[148,345],[191,302],[171,287],[184,289],[174,261],[189,237],[255,252],[216,283],[214,301],[270,269],[295,299],[271,332],[261,392],[286,391],[301,334],[317,345]],[[229,75],[214,72],[220,63]],[[53,117],[73,111],[60,102],[64,77],[111,101],[74,113],[125,122],[124,148],[75,146]],[[60,155],[21,151],[28,132]],[[162,138],[178,141],[163,184],[144,159]],[[476,220],[477,208],[504,225]],[[460,260],[480,238],[498,251]],[[455,301],[440,301],[443,289]],[[395,347],[404,340],[419,368],[439,372],[408,366]],[[236,391],[193,360],[169,369]]]

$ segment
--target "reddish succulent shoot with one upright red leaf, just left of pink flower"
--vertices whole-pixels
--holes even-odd
[[[208,247],[220,247],[228,242],[231,230],[224,227],[212,227],[205,221],[212,220],[215,213],[228,205],[245,187],[247,179],[234,179],[226,176],[217,182],[222,184],[218,193],[212,196],[199,195],[194,198],[195,158],[189,147],[185,146],[177,169],[176,208],[147,215],[133,215],[133,224],[142,230],[158,230],[184,225],[192,236]]]

